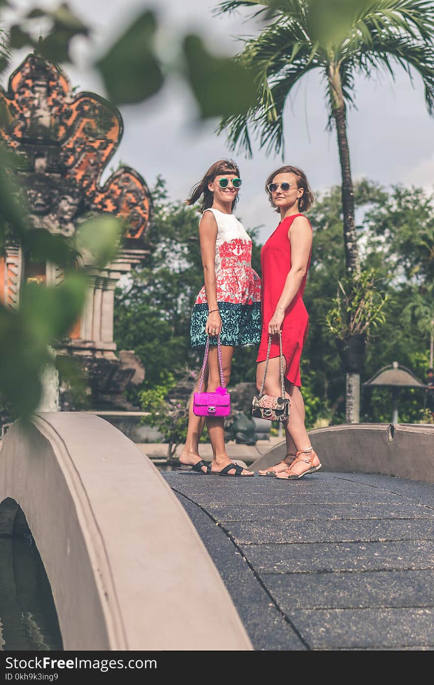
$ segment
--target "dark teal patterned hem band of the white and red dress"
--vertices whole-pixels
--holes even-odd
[[[249,347],[261,342],[261,302],[253,304],[232,304],[219,302],[221,317],[221,345]],[[208,319],[208,304],[195,304],[191,314],[191,347],[205,347],[205,325]],[[217,338],[210,338],[210,345],[217,345]]]

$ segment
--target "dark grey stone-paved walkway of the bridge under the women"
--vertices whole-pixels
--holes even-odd
[[[163,475],[256,649],[434,649],[433,485]]]

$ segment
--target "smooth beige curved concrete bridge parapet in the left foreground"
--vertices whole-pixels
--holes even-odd
[[[43,559],[64,649],[252,649],[184,508],[106,421],[14,423],[0,451],[5,533],[11,500]]]

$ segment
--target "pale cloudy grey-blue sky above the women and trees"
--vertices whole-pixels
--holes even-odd
[[[24,12],[36,5],[53,7],[52,0],[16,0]],[[243,14],[216,17],[212,10],[217,0],[70,0],[69,5],[82,21],[93,27],[91,43],[75,38],[72,45],[74,64],[64,65],[73,86],[106,95],[104,85],[92,67],[104,47],[123,32],[134,16],[145,8],[154,8],[160,17],[160,50],[176,60],[180,36],[194,32],[216,53],[234,54],[241,44],[237,36],[258,31],[256,20]],[[5,16],[7,25],[8,15]],[[19,66],[28,50],[15,51],[9,73]],[[3,75],[3,87],[7,86]],[[230,73],[228,73],[230,79]],[[423,86],[415,73],[413,84],[402,68],[396,68],[396,80],[389,75],[356,81],[357,110],[348,112],[348,140],[354,179],[368,177],[384,186],[420,185],[434,189],[434,119],[424,103]],[[158,175],[167,181],[169,196],[182,200],[208,167],[220,158],[232,158],[239,164],[243,186],[237,216],[247,229],[259,228],[265,240],[276,227],[263,190],[265,179],[282,164],[282,157],[265,156],[254,146],[252,159],[230,151],[224,134],[217,136],[217,120],[193,123],[196,110],[188,86],[171,77],[155,97],[139,105],[120,108],[124,134],[109,166],[121,160],[134,167],[153,187]],[[320,73],[312,72],[300,82],[285,110],[285,164],[299,166],[306,173],[316,193],[339,184],[340,171],[335,132],[326,131],[324,84]],[[104,173],[103,179],[108,175]]]

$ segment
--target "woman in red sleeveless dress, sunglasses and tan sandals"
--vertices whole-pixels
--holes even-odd
[[[300,392],[300,357],[309,329],[309,315],[302,297],[311,261],[312,227],[303,216],[313,202],[306,176],[296,166],[281,166],[269,175],[265,186],[269,201],[280,213],[280,223],[261,251],[262,336],[259,345],[256,385],[261,388],[269,355],[264,393],[280,397],[280,351],[278,332],[282,332],[285,390],[291,412],[285,425],[287,455],[259,475],[293,480],[321,468],[304,426],[304,401]]]

